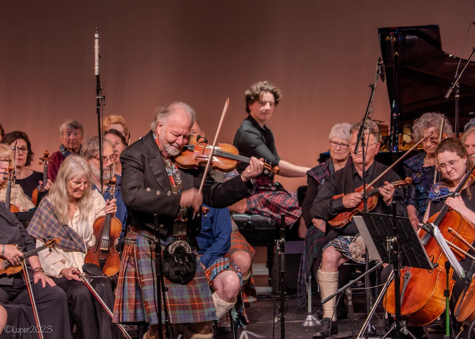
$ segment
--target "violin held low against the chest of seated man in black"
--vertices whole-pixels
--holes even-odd
[[[403,187],[406,185],[409,185],[412,182],[411,178],[406,178],[404,180],[398,180],[395,182],[391,182],[391,184],[394,185],[394,187]],[[363,186],[361,185],[359,188],[355,189],[355,193],[360,193],[361,195],[363,194]],[[374,207],[376,207],[376,204],[378,204],[378,193],[379,189],[378,188],[373,188],[372,186],[366,185],[366,196],[368,197],[368,211],[371,211]],[[342,198],[344,196],[344,193],[333,196],[332,199],[338,199]],[[329,220],[328,223],[332,225],[335,228],[340,228],[348,224],[351,220],[352,217],[363,211],[364,210],[364,201],[361,199],[360,203],[353,208],[349,208],[346,211],[339,213],[336,217],[334,217],[332,220]]]

